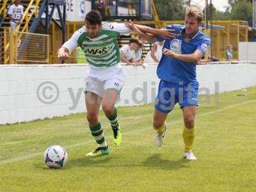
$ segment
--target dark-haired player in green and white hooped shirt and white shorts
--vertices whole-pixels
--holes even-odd
[[[158,30],[141,26],[153,35],[172,37],[172,30]],[[102,16],[97,10],[86,14],[85,26],[74,33],[70,40],[58,50],[58,58],[68,58],[77,47],[81,47],[89,63],[86,78],[85,101],[87,120],[92,136],[99,147],[86,156],[95,157],[109,154],[102,124],[99,122],[100,105],[113,129],[113,145],[118,146],[122,141],[120,125],[118,123],[115,102],[125,83],[125,75],[120,62],[120,51],[116,36],[131,35],[132,30],[122,23],[102,22]]]

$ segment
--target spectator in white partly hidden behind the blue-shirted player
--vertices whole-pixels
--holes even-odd
[[[163,54],[163,45],[164,45],[164,41],[154,43],[151,51],[148,51],[144,62],[159,63]]]

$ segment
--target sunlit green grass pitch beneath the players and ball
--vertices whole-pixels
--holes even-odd
[[[194,152],[182,159],[182,113],[168,116],[161,148],[152,129],[153,105],[118,108],[123,130],[120,147],[100,120],[109,156],[85,156],[96,147],[84,114],[0,126],[0,191],[256,191],[256,88],[245,97],[221,93],[220,102],[201,104],[196,115]],[[204,98],[201,97],[200,100]],[[67,166],[51,170],[43,162],[51,145],[67,148]]]

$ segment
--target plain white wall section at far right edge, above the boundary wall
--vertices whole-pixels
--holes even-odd
[[[256,61],[256,42],[239,42],[239,61]]]

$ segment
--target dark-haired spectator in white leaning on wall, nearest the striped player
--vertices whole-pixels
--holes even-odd
[[[121,61],[127,63],[127,65],[141,65],[145,69],[145,66],[143,65],[143,63],[141,63],[141,61],[135,60],[135,51],[138,50],[139,46],[139,41],[135,38],[131,38],[131,40],[129,41],[129,45],[124,45],[120,49]]]

